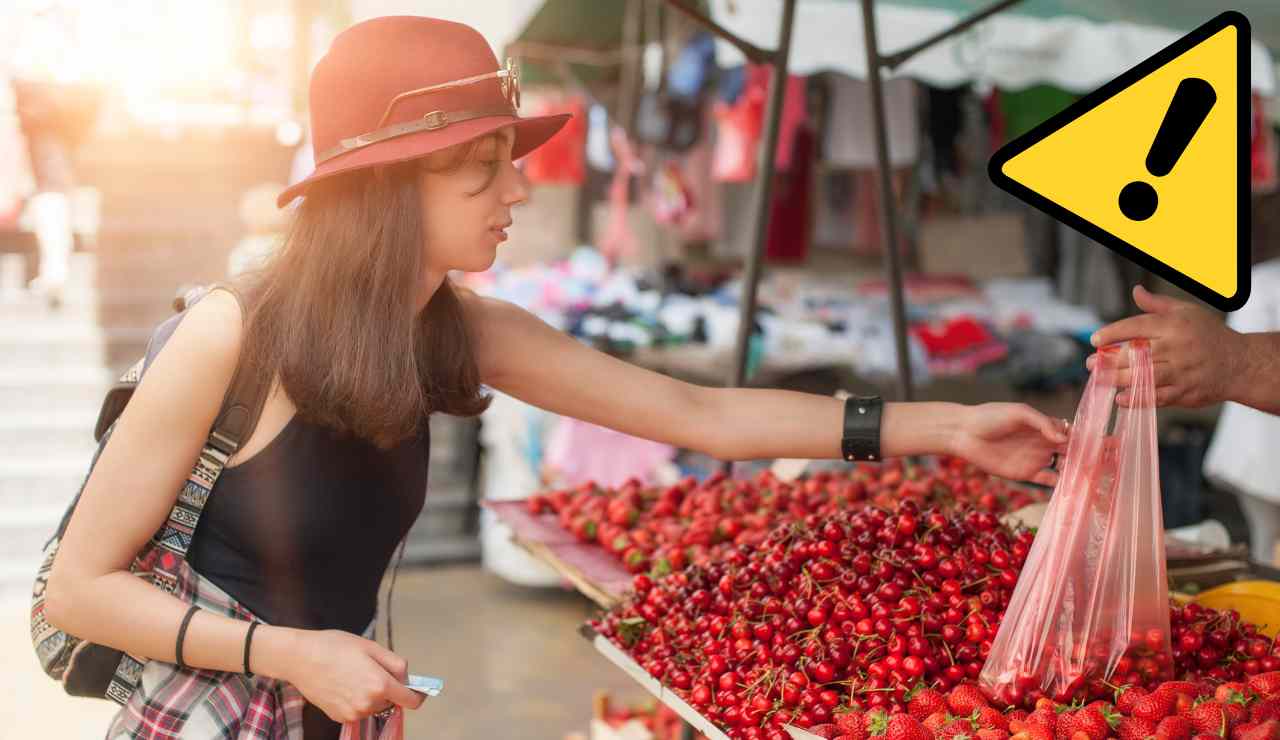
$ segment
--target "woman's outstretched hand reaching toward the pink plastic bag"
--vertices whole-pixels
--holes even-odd
[[[952,439],[954,453],[1011,480],[1056,485],[1066,456],[1069,424],[1025,403],[964,407]],[[1056,470],[1048,470],[1056,462]]]

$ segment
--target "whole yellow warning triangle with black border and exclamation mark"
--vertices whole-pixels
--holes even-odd
[[[1249,22],[1222,13],[1010,142],[991,178],[1234,311],[1249,296]]]

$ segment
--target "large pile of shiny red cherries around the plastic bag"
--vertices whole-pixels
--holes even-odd
[[[810,513],[758,542],[728,543],[701,565],[660,579],[637,575],[634,593],[593,626],[730,737],[786,737],[787,723],[850,737],[860,736],[854,727],[860,723],[893,740],[977,737],[988,730],[996,734],[984,740],[1133,736],[1121,735],[1121,717],[1156,725],[1165,717],[1126,712],[1125,696],[1158,694],[1174,676],[1189,684],[1175,691],[1185,698],[1174,696],[1171,716],[1208,704],[1204,696],[1229,686],[1239,694],[1230,696],[1235,705],[1249,713],[1230,709],[1233,718],[1217,735],[1254,730],[1253,709],[1270,704],[1249,698],[1268,696],[1271,682],[1280,688],[1280,673],[1271,676],[1280,671],[1280,649],[1236,613],[1194,604],[1171,607],[1171,653],[1162,650],[1166,636],[1158,630],[1133,635],[1108,681],[1093,676],[1055,696],[1030,681],[1002,688],[998,699],[978,690],[1033,536],[988,511],[922,510],[915,499],[892,511]],[[1231,684],[1240,680],[1267,690],[1251,694]],[[1119,688],[1126,690],[1117,696]],[[919,716],[922,705],[937,704],[934,696],[943,696],[945,707]],[[1047,728],[1033,722],[1037,711],[1055,722]],[[1076,736],[1070,718],[1092,720],[1094,711],[1106,727]],[[919,727],[895,716],[915,716]],[[1149,730],[1140,736],[1180,736]]]

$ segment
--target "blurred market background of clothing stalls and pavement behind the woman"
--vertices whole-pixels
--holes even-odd
[[[468,23],[499,58],[522,60],[525,113],[579,114],[524,161],[532,201],[499,262],[471,284],[628,361],[704,384],[732,376],[768,73],[675,5],[762,47],[777,42],[776,0],[0,5],[0,736],[105,727],[113,707],[63,696],[31,653],[24,609],[40,549],[84,476],[102,393],[178,289],[243,269],[287,228],[274,197],[310,169],[306,77],[351,23],[399,13]],[[896,50],[983,4],[876,5],[881,45]],[[861,5],[801,0],[749,383],[892,396],[884,261],[897,250],[918,398],[1018,399],[1070,417],[1088,335],[1133,311],[1129,287],[1178,291],[997,191],[987,159],[1219,5],[1027,0],[901,67],[886,82],[901,237],[888,245]],[[1231,8],[1254,32],[1253,238],[1263,255],[1280,243],[1280,5]],[[52,106],[69,155],[73,253],[60,305],[27,289],[50,216],[32,131],[17,117],[22,95]],[[623,146],[612,124],[630,132]],[[1165,524],[1215,520],[1215,536],[1245,542],[1234,498],[1201,470],[1216,416],[1160,415]],[[480,419],[431,425],[430,493],[394,613],[415,671],[449,685],[411,717],[410,736],[559,739],[588,731],[595,691],[641,700],[575,632],[591,603],[512,545],[477,502],[705,475],[716,461],[500,396]]]

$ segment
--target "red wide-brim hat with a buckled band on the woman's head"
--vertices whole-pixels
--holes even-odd
[[[389,15],[352,26],[311,74],[316,168],[285,188],[276,205],[305,196],[316,181],[419,159],[506,127],[516,133],[512,159],[525,156],[570,114],[521,118],[518,79],[511,73],[484,37],[462,23]]]

